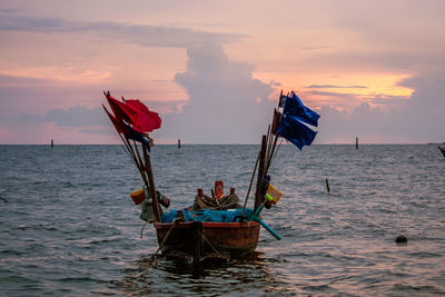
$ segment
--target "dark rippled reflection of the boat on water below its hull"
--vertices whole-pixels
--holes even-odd
[[[270,290],[275,279],[268,264],[276,261],[258,251],[228,261],[212,259],[198,265],[184,258],[160,256],[151,260],[145,257],[137,260],[135,267],[123,269],[122,279],[110,281],[109,289],[123,295],[175,295],[178,291],[221,295],[253,287],[260,289],[267,284]]]

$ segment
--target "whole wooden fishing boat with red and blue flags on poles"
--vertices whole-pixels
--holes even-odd
[[[119,101],[109,92],[105,92],[105,96],[111,112],[105,106],[103,109],[145,185],[130,196],[136,205],[142,207],[140,218],[146,224],[154,225],[159,245],[155,255],[161,251],[170,257],[188,257],[194,264],[208,258],[227,260],[257,248],[260,226],[277,240],[280,239],[280,236],[260,218],[261,211],[265,208],[270,209],[283,196],[283,192],[270,184],[268,169],[283,139],[300,150],[304,146],[309,146],[317,132],[307,125],[317,127],[319,118],[318,113],[303,105],[296,93],[284,95],[281,91],[279,96],[271,125],[267,135],[261,138],[244,206],[239,205],[234,188],[230,189],[230,194],[225,195],[222,181],[217,180],[211,196],[198,189],[190,207],[168,212],[164,212],[162,206],[168,207],[170,201],[156,190],[150,161],[152,139],[149,132],[160,128],[159,115],[149,110],[138,99],[126,100],[122,97],[122,101]],[[254,207],[248,208],[247,202],[255,178]]]

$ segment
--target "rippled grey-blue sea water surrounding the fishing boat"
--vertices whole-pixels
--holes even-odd
[[[172,208],[216,179],[244,200],[258,149],[157,146],[155,181]],[[284,196],[263,214],[280,241],[263,229],[226,266],[150,265],[158,244],[150,225],[140,238],[129,192],[142,182],[121,146],[0,146],[0,295],[445,295],[436,146],[283,146],[270,175]]]

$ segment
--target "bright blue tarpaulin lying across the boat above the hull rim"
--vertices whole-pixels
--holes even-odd
[[[229,210],[198,210],[198,211],[187,211],[181,210],[186,221],[217,221],[217,222],[233,222],[236,217],[240,216],[243,208],[229,209]],[[244,211],[244,217],[249,218],[254,214],[254,210],[246,208]],[[178,210],[171,210],[170,212],[164,214],[160,217],[161,222],[172,222],[175,218],[178,217]],[[239,218],[237,219],[237,221]]]

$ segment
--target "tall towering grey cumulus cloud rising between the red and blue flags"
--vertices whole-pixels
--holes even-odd
[[[180,115],[165,117],[162,137],[189,143],[258,142],[276,106],[267,100],[271,85],[254,79],[253,66],[228,60],[220,46],[187,53],[187,70],[175,81],[189,101]]]

